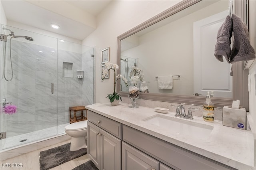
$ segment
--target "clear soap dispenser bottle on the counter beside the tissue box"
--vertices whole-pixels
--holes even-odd
[[[211,102],[210,92],[207,92],[206,101],[204,102],[203,119],[206,122],[214,121],[214,104]]]

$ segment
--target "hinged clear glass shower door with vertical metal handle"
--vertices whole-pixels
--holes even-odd
[[[57,39],[1,25],[1,34],[9,30],[22,37],[0,42],[0,97],[11,102],[1,105],[0,130],[6,138],[0,150],[57,134]],[[10,106],[15,113],[8,112]]]

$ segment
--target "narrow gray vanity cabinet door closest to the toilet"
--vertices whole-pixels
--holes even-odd
[[[100,128],[87,122],[88,147],[87,152],[92,162],[100,169]]]

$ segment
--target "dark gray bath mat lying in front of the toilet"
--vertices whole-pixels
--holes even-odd
[[[39,159],[40,170],[48,170],[85,154],[86,148],[70,151],[70,143],[42,151]]]

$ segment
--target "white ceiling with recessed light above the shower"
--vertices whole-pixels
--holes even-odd
[[[8,21],[84,40],[112,0],[1,0]],[[57,24],[60,29],[53,29]]]

